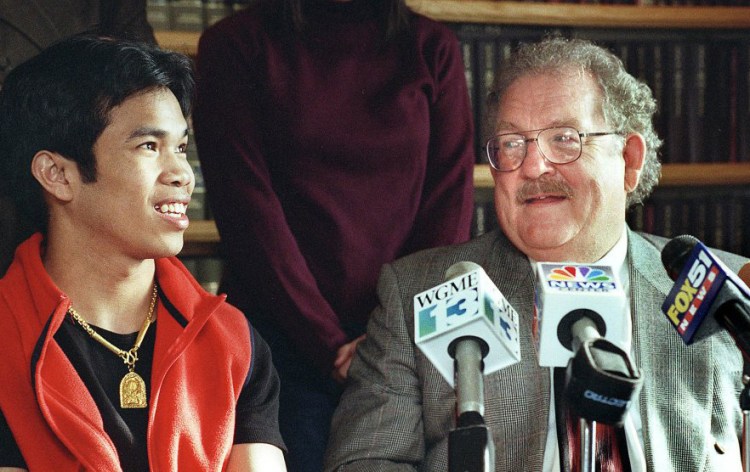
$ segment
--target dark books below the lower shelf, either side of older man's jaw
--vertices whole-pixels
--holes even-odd
[[[692,234],[705,244],[750,257],[748,186],[658,187],[643,205],[631,208],[627,222],[635,231],[673,238]],[[472,236],[498,227],[491,193],[477,194]]]

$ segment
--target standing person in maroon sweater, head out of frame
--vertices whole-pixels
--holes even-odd
[[[290,470],[319,471],[380,267],[469,238],[459,44],[403,0],[266,0],[203,33],[197,72],[222,290],[271,345]]]

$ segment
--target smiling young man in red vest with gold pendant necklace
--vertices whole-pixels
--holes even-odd
[[[193,88],[94,37],[6,78],[1,188],[38,232],[0,280],[0,467],[285,470],[268,347],[174,257]]]

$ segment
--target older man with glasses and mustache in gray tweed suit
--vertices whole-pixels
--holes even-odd
[[[660,313],[673,285],[660,262],[666,240],[625,223],[659,175],[651,91],[585,41],[527,44],[507,64],[487,143],[501,231],[383,268],[381,306],[352,362],[326,470],[447,469],[456,396],[414,345],[413,300],[464,260],[482,265],[519,315],[521,361],[484,382],[495,470],[577,470],[557,434],[550,369],[537,363],[534,261],[598,262],[627,287],[625,351],[644,384],[618,432],[619,470],[740,470],[739,350],[726,333],[684,345]],[[735,271],[746,262],[720,257]]]

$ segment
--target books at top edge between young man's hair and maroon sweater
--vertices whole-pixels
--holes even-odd
[[[147,0],[151,27],[162,31],[203,31],[254,0]]]

